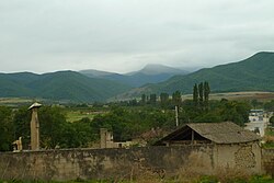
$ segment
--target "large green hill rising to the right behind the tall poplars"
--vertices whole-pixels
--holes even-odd
[[[201,69],[186,76],[175,76],[157,83],[132,90],[124,96],[141,93],[172,93],[176,90],[192,93],[193,85],[208,81],[212,92],[274,91],[274,53],[259,53],[239,62]]]

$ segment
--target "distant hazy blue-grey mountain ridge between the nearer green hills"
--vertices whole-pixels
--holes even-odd
[[[125,75],[99,71],[99,70],[93,70],[93,69],[80,70],[79,72],[91,78],[109,79],[109,80],[118,81],[121,83],[128,84],[132,87],[141,87],[147,83],[158,83],[161,81],[165,81],[175,75],[189,73],[185,70],[175,69],[175,68],[162,66],[162,65],[147,65],[139,71],[128,72]]]

